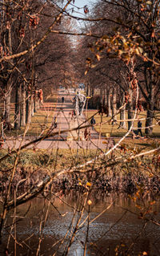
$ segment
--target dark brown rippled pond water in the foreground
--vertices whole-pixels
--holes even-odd
[[[9,235],[14,215],[14,229],[16,228],[19,243],[16,246],[17,255],[48,256],[55,253],[58,256],[81,256],[84,254],[86,241],[86,255],[160,255],[159,201],[150,203],[153,199],[147,197],[146,200],[139,201],[141,206],[135,206],[135,202],[124,193],[90,194],[92,204],[90,207],[86,205],[79,221],[80,227],[69,246],[81,214],[81,211],[76,212],[74,209],[82,207],[84,197],[85,195],[74,192],[61,194],[60,199],[51,197],[48,212],[49,201],[42,197],[18,206],[16,213],[10,212],[7,219],[0,255],[4,255],[3,250],[7,242],[11,255],[14,255],[14,242]],[[86,219],[88,213],[90,217]],[[143,218],[142,213],[146,213]],[[82,225],[83,221],[85,222]],[[11,231],[12,234],[14,229]],[[41,246],[38,250],[39,241]],[[68,246],[70,250],[67,252]]]

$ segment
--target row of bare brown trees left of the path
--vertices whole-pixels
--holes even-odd
[[[12,92],[14,128],[18,129],[30,124],[30,117],[38,106],[35,103],[38,90],[42,88],[48,93],[62,83],[70,66],[70,40],[66,35],[58,35],[58,30],[66,26],[66,20],[63,22],[61,9],[55,2],[6,1],[1,5],[2,120],[10,124]],[[56,33],[51,32],[53,27]]]

